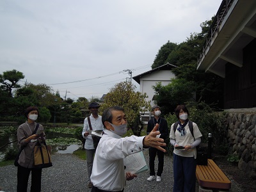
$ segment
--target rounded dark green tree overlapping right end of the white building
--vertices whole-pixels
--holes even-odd
[[[195,83],[185,79],[172,79],[172,82],[163,86],[157,83],[153,86],[156,92],[157,105],[161,106],[164,115],[173,113],[178,104],[184,104],[193,98]]]

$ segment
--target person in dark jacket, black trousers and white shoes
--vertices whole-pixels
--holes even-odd
[[[164,118],[161,117],[161,108],[159,106],[154,106],[152,108],[152,113],[154,114],[154,118],[148,121],[147,134],[152,131],[152,129],[159,124],[159,138],[166,140],[168,137],[168,124]],[[161,181],[161,175],[163,173],[164,168],[164,152],[158,150],[157,148],[150,147],[148,148],[149,152],[149,168],[150,168],[150,177],[148,177],[148,181],[152,181],[156,179],[157,182]],[[157,173],[155,172],[155,159],[156,154],[158,157],[158,169]],[[156,176],[155,176],[156,175]]]

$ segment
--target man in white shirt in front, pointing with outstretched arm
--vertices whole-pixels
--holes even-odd
[[[127,120],[124,109],[114,106],[102,114],[104,134],[99,141],[93,161],[91,180],[92,192],[95,191],[124,191],[126,180],[134,179],[136,174],[125,173],[124,158],[140,152],[144,148],[155,147],[164,150],[166,143],[162,138],[156,138],[159,125],[147,136],[129,136],[122,138],[126,132]]]

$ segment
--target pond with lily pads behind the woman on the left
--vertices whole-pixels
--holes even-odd
[[[71,133],[63,133],[63,132],[74,132],[73,130],[70,131],[72,128],[58,128],[61,132],[53,132],[56,131],[55,129],[47,129],[46,133],[46,143],[47,145],[51,145],[52,147],[52,153],[57,154],[72,154],[75,150],[78,148],[82,148],[82,142],[74,138],[74,134]],[[3,129],[9,129],[8,127],[1,127],[0,131],[3,131]],[[57,131],[58,131],[57,130]],[[68,130],[68,131],[67,131]],[[0,132],[1,134],[1,132]],[[17,137],[13,134],[7,137],[3,137],[0,135],[0,147],[3,147],[6,145],[6,143],[10,143],[9,145],[6,145],[5,147],[1,148],[0,150],[0,161],[3,160],[4,154],[8,150],[9,147],[12,148],[18,148],[17,145]],[[13,142],[15,141],[15,142]],[[12,143],[13,142],[13,143]]]

